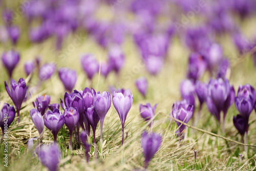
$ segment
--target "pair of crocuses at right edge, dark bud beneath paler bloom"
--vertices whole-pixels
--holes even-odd
[[[242,135],[242,141],[244,134],[246,134],[245,140],[248,139],[248,122],[251,111],[254,109],[256,101],[256,93],[252,86],[246,84],[245,86],[239,86],[238,95],[234,98],[234,104],[240,114],[233,117],[234,126]]]

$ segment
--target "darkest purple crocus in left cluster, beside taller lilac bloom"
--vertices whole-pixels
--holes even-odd
[[[97,125],[99,123],[99,116],[96,113],[96,111],[94,110],[93,105],[91,106],[91,108],[87,108],[87,110],[86,110],[86,118],[87,118],[89,124],[92,126],[93,141],[94,141],[94,143],[96,143],[95,132],[96,132],[96,129],[97,129]]]

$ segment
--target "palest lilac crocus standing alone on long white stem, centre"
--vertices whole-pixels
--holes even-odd
[[[122,93],[113,94],[113,104],[114,107],[120,117],[122,124],[122,144],[123,144],[123,136],[124,136],[124,122],[126,120],[127,114],[130,111],[133,104],[133,94],[126,93],[125,97]]]

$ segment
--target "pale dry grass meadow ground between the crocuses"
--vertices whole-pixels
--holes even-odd
[[[246,30],[247,25],[252,20],[243,24]],[[250,27],[251,28],[251,27]],[[251,30],[249,30],[251,31]],[[82,35],[82,36],[81,36]],[[63,49],[59,52],[54,50],[54,40],[49,39],[40,45],[27,45],[19,42],[17,49],[20,51],[20,62],[14,70],[13,78],[18,80],[25,77],[23,64],[28,59],[33,59],[36,55],[42,56],[42,63],[53,61],[57,67],[70,67],[78,72],[78,79],[75,85],[76,90],[82,90],[90,87],[90,81],[86,78],[79,55],[84,53],[93,53],[99,60],[105,60],[107,52],[102,50],[95,42],[86,35],[77,33],[82,38],[79,45],[72,46],[77,36],[70,35],[65,40]],[[220,38],[224,54],[231,61],[230,84],[238,90],[239,84],[249,83],[256,87],[256,69],[250,56],[239,58],[239,55],[233,47],[229,37]],[[70,49],[70,47],[74,47]],[[169,121],[169,113],[172,105],[181,99],[179,86],[182,79],[186,76],[186,65],[189,51],[182,45],[177,37],[174,37],[166,62],[161,73],[156,76],[150,76],[140,61],[140,54],[135,47],[133,40],[129,37],[123,45],[125,53],[125,67],[117,77],[111,73],[107,79],[97,75],[92,81],[92,87],[96,91],[109,91],[109,86],[130,89],[134,95],[132,108],[125,122],[124,145],[121,147],[121,123],[119,116],[113,106],[106,115],[103,125],[103,147],[99,152],[102,156],[99,159],[94,158],[94,147],[91,147],[90,162],[87,163],[84,156],[84,148],[76,148],[76,141],[73,139],[75,149],[69,151],[69,131],[66,126],[60,130],[57,142],[62,151],[62,160],[59,170],[134,170],[143,169],[144,157],[141,148],[141,135],[144,130],[148,130],[147,124],[140,117],[139,104],[150,102],[152,105],[158,103],[154,126],[152,130],[162,135],[162,143],[159,151],[150,162],[148,170],[252,170],[256,165],[256,151],[254,147],[249,147],[248,155],[243,152],[243,145],[224,140],[204,132],[188,129],[185,140],[179,143],[175,131],[177,131],[176,122]],[[0,52],[4,52],[6,47],[1,46]],[[63,55],[65,54],[65,55]],[[67,56],[63,58],[63,56]],[[135,79],[140,76],[146,76],[149,83],[148,94],[145,99],[139,94],[135,87]],[[5,69],[0,68],[0,89],[1,101],[12,104],[11,99],[5,91],[4,81],[8,79]],[[203,80],[208,81],[209,75],[205,75]],[[37,75],[32,76],[30,87],[36,87],[38,82]],[[20,123],[17,126],[17,119],[9,128],[9,160],[8,168],[0,163],[0,170],[46,170],[41,165],[37,157],[32,157],[27,152],[27,142],[29,138],[38,137],[38,132],[31,121],[29,111],[33,108],[32,101],[38,95],[47,94],[51,96],[51,103],[59,103],[59,98],[63,98],[65,89],[58,78],[57,73],[50,79],[41,84],[36,94],[23,103],[20,111]],[[197,101],[198,104],[198,101]],[[63,112],[63,111],[62,111]],[[194,115],[197,116],[198,107],[195,108]],[[234,104],[228,111],[225,120],[225,134],[220,132],[215,118],[208,112],[206,105],[203,105],[202,116],[197,127],[208,132],[216,133],[220,136],[232,140],[240,141],[241,137],[233,126],[232,117],[238,111]],[[255,145],[256,142],[256,115],[253,111],[250,115],[250,126],[248,143]],[[188,124],[192,124],[190,120]],[[96,143],[99,142],[100,124],[96,131]],[[53,142],[53,136],[45,127],[43,143]],[[3,161],[4,145],[0,145],[0,157]],[[197,160],[194,158],[194,150],[197,151]],[[239,160],[239,154],[243,154],[243,160]]]

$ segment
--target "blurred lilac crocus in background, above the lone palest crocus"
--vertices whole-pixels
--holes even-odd
[[[124,65],[124,54],[120,47],[112,46],[109,50],[109,65],[116,72],[119,73]]]

